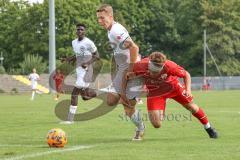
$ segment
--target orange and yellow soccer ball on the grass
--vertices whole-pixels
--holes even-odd
[[[65,132],[60,128],[53,128],[48,131],[47,143],[49,147],[64,147],[67,143]]]

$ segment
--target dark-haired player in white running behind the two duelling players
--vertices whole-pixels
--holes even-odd
[[[72,41],[74,54],[71,57],[64,58],[63,61],[75,62],[77,81],[71,94],[71,105],[69,108],[68,119],[64,124],[72,124],[78,105],[78,95],[83,100],[89,100],[96,97],[93,89],[88,88],[92,82],[93,66],[92,63],[99,59],[97,47],[89,38],[85,37],[86,26],[84,24],[76,25],[77,38]]]

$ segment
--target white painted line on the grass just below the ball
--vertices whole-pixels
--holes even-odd
[[[77,151],[77,150],[88,149],[88,148],[92,148],[92,147],[93,146],[83,146],[83,145],[81,145],[81,146],[74,146],[74,147],[71,147],[71,148],[64,148],[64,149],[57,148],[57,149],[54,149],[52,151],[38,152],[38,153],[34,153],[34,154],[26,154],[26,155],[10,157],[10,158],[0,159],[0,160],[20,160],[20,159],[25,159],[25,158],[34,158],[34,157],[49,155],[49,154],[52,154],[52,153]],[[53,148],[51,148],[51,149],[53,149]]]

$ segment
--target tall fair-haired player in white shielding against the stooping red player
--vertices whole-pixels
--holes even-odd
[[[107,95],[107,103],[110,106],[116,105],[120,98],[128,99],[131,105],[124,105],[125,113],[137,127],[133,140],[142,140],[145,126],[142,122],[139,110],[135,109],[136,98],[140,91],[130,90],[139,83],[139,81],[129,81],[127,97],[122,94],[122,79],[127,71],[131,71],[133,64],[138,61],[139,48],[133,42],[128,31],[119,23],[114,21],[112,6],[103,4],[97,9],[98,23],[108,31],[108,39],[114,51],[113,60],[117,66],[117,72],[112,82],[112,90]],[[140,60],[140,59],[139,59]]]

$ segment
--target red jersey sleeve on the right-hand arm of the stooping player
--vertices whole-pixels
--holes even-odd
[[[175,62],[170,61],[170,63],[168,64],[169,66],[169,73],[173,76],[177,76],[179,78],[183,78],[186,76],[186,70],[177,65]]]

